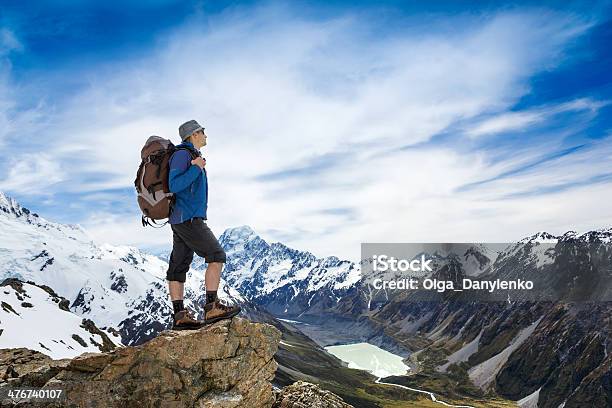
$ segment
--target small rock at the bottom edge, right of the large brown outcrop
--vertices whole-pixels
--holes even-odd
[[[276,391],[274,408],[352,408],[336,394],[306,381],[297,381]]]

